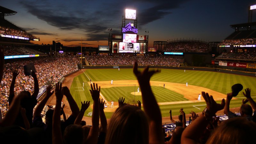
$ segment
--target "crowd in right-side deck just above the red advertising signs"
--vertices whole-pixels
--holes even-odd
[[[256,60],[256,53],[221,53],[216,58]]]

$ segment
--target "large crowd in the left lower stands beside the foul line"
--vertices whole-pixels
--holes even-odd
[[[57,83],[62,76],[77,70],[77,58],[74,57],[43,57],[31,60],[12,61],[4,65],[4,77],[1,81],[0,105],[2,113],[5,115],[8,109],[8,93],[10,89],[10,81],[12,81],[13,70],[18,70],[20,73],[16,78],[15,92],[26,90],[33,92],[33,79],[30,76],[24,75],[23,66],[28,63],[34,63],[36,68],[36,75],[39,87],[45,85],[47,82]]]

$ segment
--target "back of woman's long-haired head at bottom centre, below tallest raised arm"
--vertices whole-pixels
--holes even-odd
[[[136,106],[124,105],[116,109],[108,124],[106,144],[148,143],[149,124],[146,114]]]

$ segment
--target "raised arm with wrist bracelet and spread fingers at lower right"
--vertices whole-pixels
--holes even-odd
[[[206,108],[193,123],[189,124],[183,131],[181,136],[181,144],[196,144],[199,142],[199,138],[204,133],[206,126],[212,121],[212,116],[225,106],[225,100],[222,99],[221,104],[216,103],[212,96],[208,93],[202,92],[202,96],[206,102]]]

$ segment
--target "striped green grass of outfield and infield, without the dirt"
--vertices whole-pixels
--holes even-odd
[[[142,69],[139,69],[142,70]],[[84,70],[85,74],[92,79],[92,81],[113,81],[116,80],[136,80],[136,77],[132,73],[132,68],[122,68],[120,71],[117,69],[86,69]],[[83,82],[89,82],[90,80],[85,76],[84,73],[76,76],[72,82],[70,92],[73,95],[74,99],[78,103],[79,107],[81,107],[81,101],[90,100],[92,103],[92,98],[89,93],[90,86],[85,83],[84,91],[82,88]],[[231,86],[236,83],[240,83],[244,86],[244,88],[249,87],[252,89],[251,95],[256,96],[256,77],[250,76],[241,76],[241,75],[233,75],[219,72],[209,72],[209,71],[194,71],[194,70],[177,70],[177,69],[161,69],[161,73],[155,74],[151,78],[152,81],[163,81],[170,83],[181,83],[186,84],[188,82],[189,85],[196,85],[200,87],[205,87],[208,89],[212,89],[214,91],[227,94],[231,92]],[[78,91],[79,90],[79,91]],[[161,90],[161,91],[160,91]],[[127,87],[112,87],[112,88],[102,88],[101,92],[104,97],[110,101],[117,99],[120,96],[125,96],[127,102],[131,102],[134,100],[134,95],[131,92],[134,91],[134,86]],[[137,91],[137,87],[135,88]],[[170,90],[164,90],[158,88],[157,86],[152,86],[152,91],[156,96],[156,100],[158,102],[170,102],[170,101],[184,101],[186,100],[182,95],[172,92]],[[166,96],[166,93],[170,93],[169,96]],[[135,96],[137,100],[141,100],[140,96]],[[214,98],[214,95],[213,95]],[[230,103],[230,108],[240,107],[242,99],[244,98],[242,92],[240,92],[237,96],[237,100],[232,100]],[[217,101],[220,102],[220,101]],[[160,105],[160,109],[162,112],[162,116],[169,116],[169,111],[172,109],[173,115],[179,114],[179,109],[181,107],[184,108],[186,113],[190,111],[201,112],[205,106],[196,106],[195,105],[204,105],[205,102],[196,102],[196,103],[186,103],[186,104],[172,104],[172,105]],[[198,109],[200,108],[200,109]],[[85,116],[88,112],[92,112],[91,108],[85,112]],[[110,118],[112,113],[106,113],[107,118]]]

